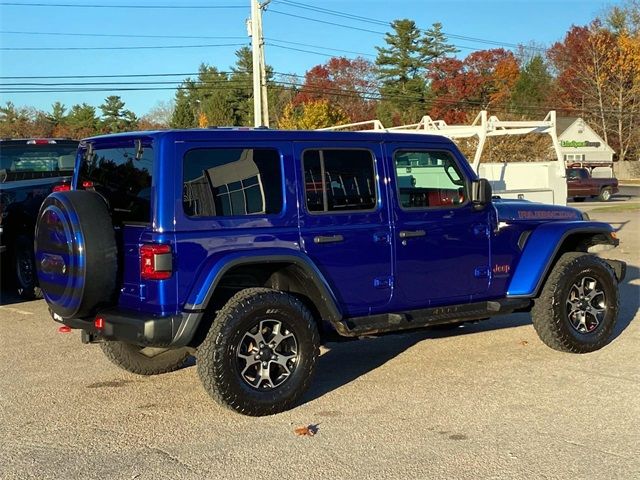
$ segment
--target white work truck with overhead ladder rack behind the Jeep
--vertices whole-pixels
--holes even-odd
[[[386,128],[379,120],[338,125],[321,130],[385,131],[395,133],[423,133],[442,135],[452,140],[476,137],[478,146],[471,166],[478,176],[491,183],[494,195],[501,198],[526,199],[533,202],[566,205],[567,181],[565,165],[556,134],[556,112],[551,111],[542,121],[502,121],[481,111],[471,125],[447,125],[443,120],[424,116],[418,123]],[[546,134],[551,137],[555,159],[548,162],[480,163],[489,137],[504,135]]]

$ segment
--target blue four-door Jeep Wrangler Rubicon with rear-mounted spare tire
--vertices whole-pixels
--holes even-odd
[[[617,243],[578,210],[493,199],[442,137],[200,129],[84,140],[36,263],[54,319],[118,366],[195,353],[215,400],[267,415],[336,334],[531,311],[550,347],[599,349],[625,264],[589,251]]]

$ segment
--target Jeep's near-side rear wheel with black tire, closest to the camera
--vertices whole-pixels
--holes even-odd
[[[320,339],[309,310],[267,288],[235,294],[198,349],[202,384],[220,405],[244,415],[292,408],[311,383]]]

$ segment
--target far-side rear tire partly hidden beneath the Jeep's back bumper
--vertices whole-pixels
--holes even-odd
[[[159,375],[182,368],[191,355],[186,348],[141,347],[120,341],[104,341],[102,352],[115,365],[138,375]]]

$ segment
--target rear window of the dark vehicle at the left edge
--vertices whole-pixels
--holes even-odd
[[[76,143],[58,144],[6,144],[0,143],[0,170],[8,176],[20,174],[70,174],[76,160]]]

